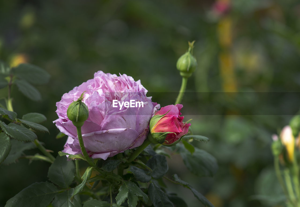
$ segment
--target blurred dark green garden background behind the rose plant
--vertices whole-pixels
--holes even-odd
[[[206,144],[193,144],[217,158],[219,170],[213,178],[198,178],[174,155],[168,160],[169,175],[177,173],[216,207],[274,206],[280,201],[271,135],[292,114],[246,116],[238,106],[212,101],[207,92],[299,92],[299,31],[297,0],[0,1],[0,59],[12,65],[26,61],[51,75],[47,85],[38,86],[41,102],[27,99],[17,88],[12,97],[18,115],[46,115],[50,135],[40,133],[38,138],[55,156],[66,140],[55,139],[58,129],[52,123],[57,119],[55,103],[64,93],[103,70],[140,79],[153,101],[173,104],[175,97],[166,99],[165,94],[180,88],[176,61],[187,50],[187,41],[196,40],[198,69],[187,85],[195,95],[188,98],[187,93],[182,114],[185,120],[193,118],[194,134],[210,138]],[[0,90],[0,96],[6,97],[7,90]],[[273,102],[298,106],[295,100],[291,96]],[[216,114],[197,111],[211,102]],[[248,111],[271,107],[262,106],[256,93],[240,104]],[[48,167],[27,160],[1,165],[0,206],[33,182],[46,181]],[[189,206],[200,205],[187,189],[168,185]],[[260,200],[253,197],[257,194]]]

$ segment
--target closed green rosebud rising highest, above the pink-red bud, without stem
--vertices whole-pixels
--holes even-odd
[[[188,42],[188,51],[180,56],[176,64],[177,69],[180,71],[180,75],[185,78],[190,77],[197,67],[196,58],[193,56],[194,42],[195,41],[191,43]]]

